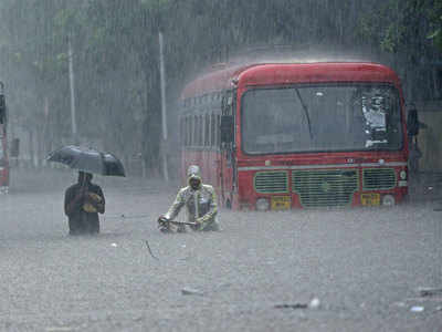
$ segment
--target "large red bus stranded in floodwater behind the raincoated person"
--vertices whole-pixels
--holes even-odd
[[[369,62],[224,66],[181,94],[181,167],[222,206],[391,206],[408,195],[398,75]]]

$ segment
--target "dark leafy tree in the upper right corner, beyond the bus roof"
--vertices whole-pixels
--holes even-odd
[[[373,3],[375,6],[372,6]],[[410,100],[434,98],[432,62],[438,60],[440,0],[376,0],[361,18],[359,33],[372,48],[390,53]],[[434,43],[433,43],[434,41]]]

